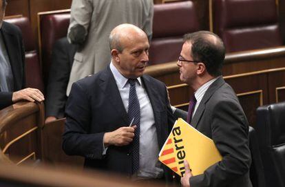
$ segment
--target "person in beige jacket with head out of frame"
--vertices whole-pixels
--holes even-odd
[[[72,83],[107,67],[109,33],[121,23],[131,23],[152,35],[153,0],[73,0],[67,38],[78,45],[67,95]]]

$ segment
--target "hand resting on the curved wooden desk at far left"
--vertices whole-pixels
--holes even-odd
[[[16,103],[17,101],[21,100],[27,100],[27,101],[43,101],[45,100],[45,97],[43,97],[43,94],[40,90],[35,88],[25,88],[23,90],[19,90],[17,92],[13,92],[12,95],[12,101],[13,103]]]

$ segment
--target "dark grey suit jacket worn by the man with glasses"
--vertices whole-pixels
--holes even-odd
[[[222,77],[205,93],[191,125],[213,139],[223,158],[203,175],[191,177],[190,186],[251,186],[249,125],[235,92]]]

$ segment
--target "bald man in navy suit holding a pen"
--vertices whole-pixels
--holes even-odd
[[[73,84],[65,109],[63,150],[85,166],[137,180],[169,179],[158,153],[173,126],[165,84],[144,75],[149,42],[123,24],[109,36],[112,62]]]

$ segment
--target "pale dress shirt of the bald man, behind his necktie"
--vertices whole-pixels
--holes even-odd
[[[120,97],[127,112],[129,109],[130,87],[129,83],[127,83],[128,79],[120,74],[113,62],[110,63],[110,69],[116,80]],[[136,94],[140,103],[140,166],[136,177],[144,179],[160,178],[163,175],[163,169],[158,161],[159,148],[154,111],[140,77],[138,77],[136,82]],[[126,126],[128,125],[126,124]]]

